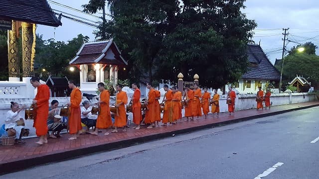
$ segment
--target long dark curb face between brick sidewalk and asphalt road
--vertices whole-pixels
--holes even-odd
[[[237,122],[256,119],[256,118],[260,118],[260,117],[268,117],[268,116],[278,115],[278,114],[291,112],[291,111],[295,111],[295,110],[312,108],[312,107],[316,107],[316,106],[319,106],[319,104],[313,104],[313,105],[309,105],[309,106],[302,106],[302,107],[296,107],[296,108],[291,108],[291,109],[285,109],[285,110],[281,110],[281,111],[263,113],[263,114],[258,114],[258,115],[254,115],[254,116],[248,116],[248,117],[242,117],[242,118],[232,119],[232,120],[223,121],[223,122],[200,125],[200,126],[190,127],[190,128],[186,128],[186,129],[171,131],[171,132],[164,132],[164,133],[160,133],[160,134],[143,136],[143,137],[138,137],[138,138],[134,138],[134,139],[127,139],[127,140],[122,140],[122,141],[118,141],[118,142],[102,144],[102,145],[97,145],[97,146],[91,146],[91,147],[82,148],[82,149],[75,149],[72,151],[65,151],[65,152],[60,152],[60,153],[55,153],[55,154],[49,154],[49,155],[35,157],[35,158],[31,158],[31,159],[3,163],[3,164],[0,164],[0,174],[3,175],[3,174],[11,173],[11,172],[31,168],[31,167],[34,167],[37,165],[48,164],[51,162],[60,162],[63,160],[69,160],[72,158],[76,158],[76,157],[80,157],[80,156],[84,156],[84,155],[90,155],[90,154],[97,153],[97,152],[106,152],[106,151],[116,150],[116,149],[120,149],[120,148],[126,148],[126,147],[130,147],[130,146],[133,146],[133,145],[136,145],[139,143],[145,143],[145,142],[158,140],[158,139],[165,138],[165,137],[170,137],[173,134],[175,134],[175,135],[176,134],[183,134],[183,133],[193,132],[193,131],[207,129],[207,128],[211,128],[211,127],[216,127],[219,125],[225,125],[225,124],[229,124],[229,123],[237,123]]]

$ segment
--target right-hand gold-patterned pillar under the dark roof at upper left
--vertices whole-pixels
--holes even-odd
[[[22,22],[22,69],[23,77],[32,77],[33,64],[31,62],[31,49],[33,43],[33,25]]]

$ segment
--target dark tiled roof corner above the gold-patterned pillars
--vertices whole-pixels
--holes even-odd
[[[62,25],[46,0],[1,0],[0,19],[54,27]]]

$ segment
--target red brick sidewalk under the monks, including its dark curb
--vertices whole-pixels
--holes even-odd
[[[176,125],[167,127],[147,129],[146,126],[142,126],[140,130],[128,129],[127,132],[122,132],[120,129],[118,133],[111,133],[108,136],[104,136],[103,132],[99,133],[98,136],[84,134],[72,141],[68,140],[69,134],[64,134],[62,138],[49,138],[48,143],[42,146],[35,144],[38,138],[28,138],[25,139],[26,143],[22,145],[0,146],[0,174],[12,172],[12,166],[15,170],[22,170],[35,165],[61,161],[94,152],[124,148],[137,143],[168,137],[172,134],[181,134],[220,124],[266,117],[314,106],[319,106],[319,102],[273,106],[270,110],[240,110],[231,115],[225,112],[220,113],[219,117],[216,114],[209,114],[207,119],[204,119],[203,116],[199,120],[194,118],[194,121],[177,122]]]

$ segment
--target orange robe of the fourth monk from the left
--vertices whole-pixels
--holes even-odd
[[[122,90],[116,94],[116,104],[119,104],[121,102],[123,103],[118,107],[119,115],[115,115],[114,126],[117,126],[117,127],[126,126],[125,104],[128,103],[128,96],[126,92]]]

